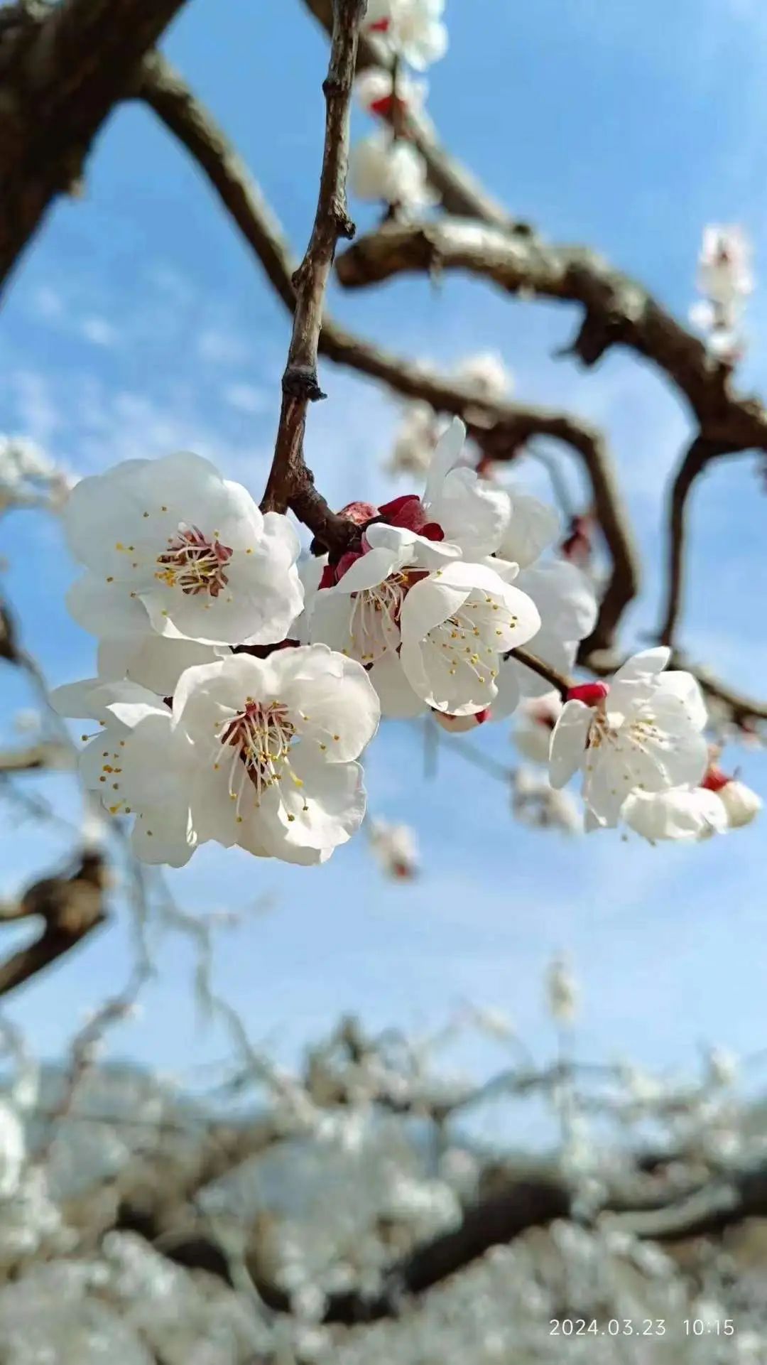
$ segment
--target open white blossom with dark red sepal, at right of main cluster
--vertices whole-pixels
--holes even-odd
[[[646,650],[613,680],[573,689],[551,737],[551,786],[581,768],[587,827],[618,823],[628,796],[700,782],[706,706],[689,673],[665,673],[670,650]],[[590,704],[587,704],[587,702]]]

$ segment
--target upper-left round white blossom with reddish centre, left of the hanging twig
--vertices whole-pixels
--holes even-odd
[[[64,508],[87,573],[68,592],[94,635],[150,629],[207,644],[267,644],[302,609],[299,539],[197,455],[126,460],[82,479]]]

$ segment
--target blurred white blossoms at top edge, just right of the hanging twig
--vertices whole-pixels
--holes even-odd
[[[388,119],[392,131],[378,128],[355,143],[349,156],[349,187],[360,199],[382,201],[400,212],[437,203],[420,152],[408,141],[408,115],[420,113],[426,82],[412,79],[403,63],[424,71],[448,51],[442,23],[445,0],[368,0],[366,30],[392,59],[392,67],[373,67],[356,82],[362,108]]]

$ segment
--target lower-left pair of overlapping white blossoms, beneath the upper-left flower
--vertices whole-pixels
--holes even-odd
[[[214,839],[322,863],[364,816],[355,760],[375,733],[378,698],[364,669],[326,646],[192,665],[172,707],[135,682],[97,678],[57,689],[53,704],[98,721],[83,784],[111,815],[135,816],[143,861],[179,867]]]

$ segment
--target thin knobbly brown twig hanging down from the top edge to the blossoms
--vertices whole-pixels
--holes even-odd
[[[352,238],[347,212],[349,104],[364,0],[334,0],[330,66],[323,82],[328,105],[317,216],[306,255],[293,276],[293,333],[283,375],[283,407],[274,460],[263,494],[265,512],[285,512],[296,494],[311,489],[303,459],[308,404],[325,397],[317,379],[317,355],[328,277],[340,238]]]

